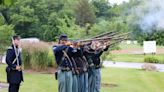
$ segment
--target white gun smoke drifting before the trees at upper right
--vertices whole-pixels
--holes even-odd
[[[144,0],[144,3],[137,7],[137,15],[141,20],[139,25],[143,31],[153,29],[164,29],[164,0]]]

